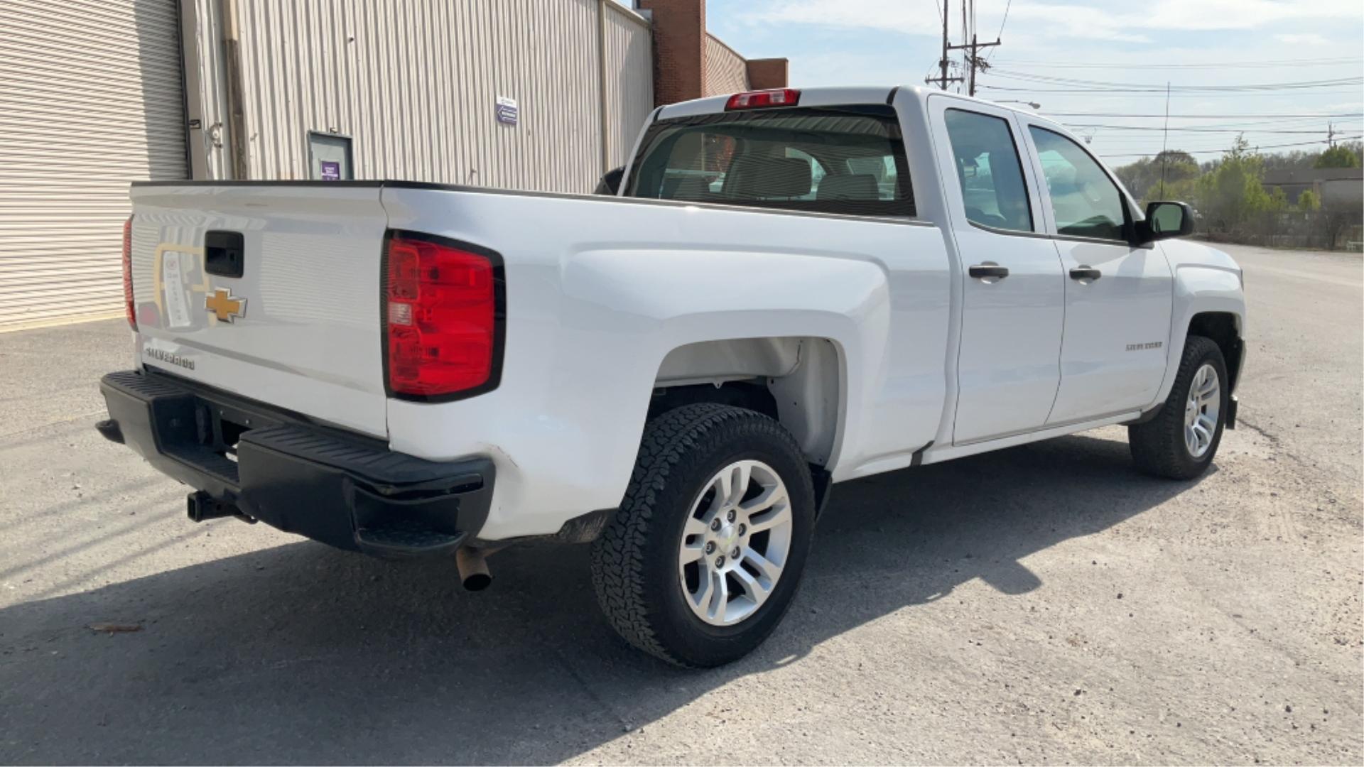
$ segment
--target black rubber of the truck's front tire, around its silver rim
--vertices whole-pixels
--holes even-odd
[[[1180,358],[1180,368],[1174,375],[1174,386],[1170,388],[1165,407],[1151,420],[1128,426],[1127,435],[1128,446],[1132,452],[1132,463],[1143,474],[1166,479],[1192,479],[1202,474],[1207,464],[1211,463],[1213,454],[1217,452],[1217,441],[1214,441],[1206,460],[1194,461],[1188,457],[1183,437],[1184,399],[1188,396],[1194,373],[1209,358],[1222,362],[1221,347],[1211,338],[1189,336],[1184,341],[1184,355]],[[1221,368],[1222,371],[1226,370],[1225,362],[1222,362]],[[1221,375],[1225,397],[1228,381],[1225,373]],[[1226,412],[1225,407],[1222,412]],[[1221,431],[1222,426],[1218,424],[1218,435],[1214,439],[1221,438]]]

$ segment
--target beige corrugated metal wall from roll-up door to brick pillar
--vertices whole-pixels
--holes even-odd
[[[251,179],[308,177],[310,130],[353,139],[357,179],[588,192],[603,171],[597,0],[198,1],[235,3]],[[647,26],[604,12],[615,158],[652,108],[652,59]],[[203,68],[209,101],[226,86]]]

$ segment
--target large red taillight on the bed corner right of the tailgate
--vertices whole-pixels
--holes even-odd
[[[471,247],[408,233],[389,239],[383,322],[391,393],[443,399],[498,385],[499,265]]]

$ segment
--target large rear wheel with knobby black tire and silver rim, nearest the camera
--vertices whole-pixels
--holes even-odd
[[[679,666],[752,652],[795,596],[814,532],[810,469],[776,420],[694,404],[644,430],[625,500],[592,545],[603,613]]]

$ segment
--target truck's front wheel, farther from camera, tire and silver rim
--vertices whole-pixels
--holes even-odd
[[[1127,427],[1136,468],[1168,479],[1194,479],[1207,471],[1222,442],[1229,401],[1222,349],[1211,338],[1189,336],[1161,412]]]

